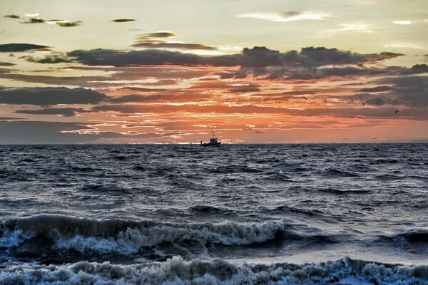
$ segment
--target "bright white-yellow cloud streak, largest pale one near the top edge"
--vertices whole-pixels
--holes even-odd
[[[237,17],[259,19],[272,22],[290,22],[301,20],[324,20],[330,17],[331,14],[323,11],[287,11],[282,13],[273,12],[254,12],[248,14],[240,14]]]

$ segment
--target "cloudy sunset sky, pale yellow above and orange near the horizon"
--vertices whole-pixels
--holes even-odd
[[[428,1],[0,1],[0,144],[428,142]]]

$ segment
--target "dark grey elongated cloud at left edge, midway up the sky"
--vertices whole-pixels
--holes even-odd
[[[0,103],[14,105],[98,104],[108,96],[84,88],[2,88]]]

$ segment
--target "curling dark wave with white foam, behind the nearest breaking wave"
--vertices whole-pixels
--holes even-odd
[[[40,214],[7,219],[0,224],[0,247],[17,247],[28,239],[43,238],[59,249],[131,254],[165,242],[246,245],[267,242],[278,234],[291,235],[285,222],[168,223],[126,219],[81,219]]]

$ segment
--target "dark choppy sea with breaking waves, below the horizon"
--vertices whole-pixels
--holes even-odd
[[[428,284],[428,144],[0,146],[0,284]]]

